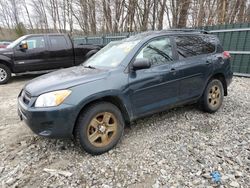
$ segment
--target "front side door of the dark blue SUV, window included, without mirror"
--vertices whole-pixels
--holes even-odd
[[[152,66],[129,73],[130,100],[136,118],[176,103],[181,76],[169,37],[149,41],[135,60],[140,58],[149,59]]]

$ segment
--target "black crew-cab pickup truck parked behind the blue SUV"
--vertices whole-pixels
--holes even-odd
[[[48,71],[81,64],[101,46],[73,45],[65,34],[25,35],[0,50],[0,84],[11,73]]]

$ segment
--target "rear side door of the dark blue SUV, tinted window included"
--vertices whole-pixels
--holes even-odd
[[[179,96],[182,101],[191,100],[202,94],[213,72],[215,46],[203,35],[180,35],[175,41],[182,74]]]

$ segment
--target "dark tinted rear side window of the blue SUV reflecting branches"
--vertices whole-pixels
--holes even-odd
[[[210,42],[208,37],[178,36],[175,40],[180,59],[209,54],[215,51],[215,45]]]

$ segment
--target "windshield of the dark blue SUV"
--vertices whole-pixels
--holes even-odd
[[[117,67],[140,41],[111,42],[84,62],[88,67]]]

